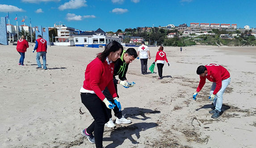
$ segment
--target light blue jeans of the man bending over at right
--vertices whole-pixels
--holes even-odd
[[[221,86],[220,90],[218,90],[218,93],[216,94],[216,99],[214,100],[214,107],[217,111],[221,111],[223,94],[224,94],[224,91],[227,88],[228,84],[230,83],[230,80],[231,80],[231,78],[222,80],[222,86]],[[213,94],[215,87],[216,87],[216,82],[213,82],[211,91],[210,91],[210,95]]]

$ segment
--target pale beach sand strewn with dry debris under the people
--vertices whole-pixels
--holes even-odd
[[[79,90],[87,64],[103,49],[51,46],[48,70],[37,70],[33,48],[25,53],[25,66],[19,66],[16,46],[0,45],[0,148],[95,148],[80,134],[92,116]],[[148,67],[157,49],[150,47]],[[105,128],[105,148],[256,148],[256,47],[164,51],[170,67],[164,66],[161,80],[157,73],[142,75],[138,59],[130,64],[127,78],[136,85],[118,86],[118,93],[132,123]],[[208,113],[211,82],[197,101],[192,99],[199,82],[196,69],[209,63],[231,73],[218,119]]]

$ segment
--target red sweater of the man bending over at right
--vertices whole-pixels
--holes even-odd
[[[200,77],[200,82],[197,87],[197,92],[199,92],[203,88],[207,78],[210,82],[216,82],[216,87],[213,92],[213,94],[216,95],[222,86],[222,80],[229,78],[230,74],[226,68],[218,64],[208,64],[206,65],[206,69],[207,69],[207,76]]]

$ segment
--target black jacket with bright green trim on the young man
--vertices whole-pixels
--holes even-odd
[[[115,63],[114,74],[113,74],[114,84],[118,84],[116,75],[118,75],[118,78],[120,80],[122,81],[126,80],[126,72],[128,70],[129,64],[127,64],[123,59],[125,52],[126,50],[123,50],[121,57]]]

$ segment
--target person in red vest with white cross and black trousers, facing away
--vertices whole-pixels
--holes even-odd
[[[163,78],[162,74],[163,74],[164,60],[167,62],[168,66],[170,66],[166,58],[166,53],[163,50],[164,50],[164,47],[160,46],[158,49],[158,52],[155,55],[155,61],[153,62],[153,64],[155,64],[156,62],[156,65],[157,65],[158,75],[159,75],[158,79]]]

